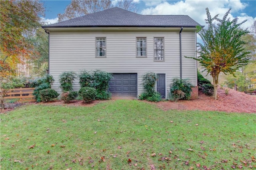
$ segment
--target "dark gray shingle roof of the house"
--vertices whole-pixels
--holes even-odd
[[[61,27],[190,27],[200,26],[187,15],[140,15],[118,7],[58,22],[42,28]]]

